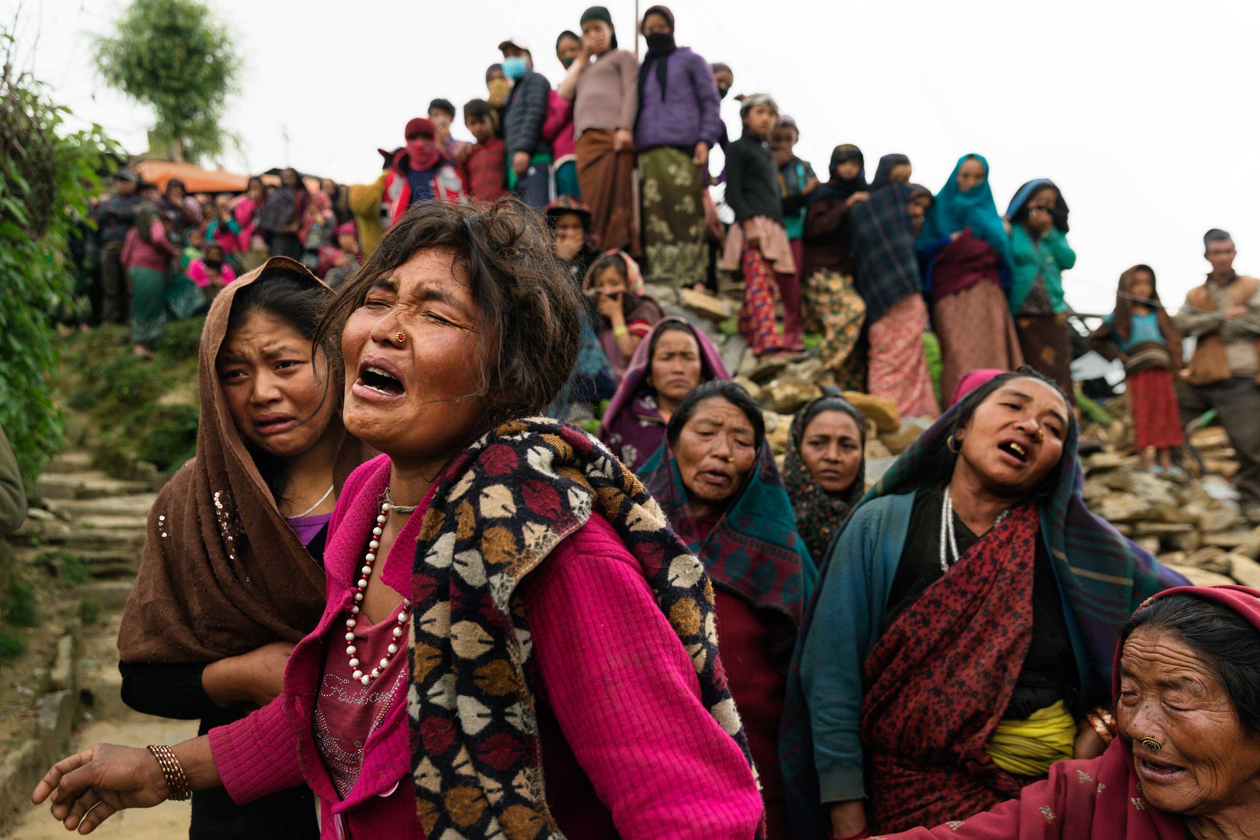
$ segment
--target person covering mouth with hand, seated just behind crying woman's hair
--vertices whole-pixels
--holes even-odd
[[[643,293],[639,264],[624,251],[605,251],[586,272],[582,291],[595,298],[600,345],[620,383],[635,348],[665,314]]]

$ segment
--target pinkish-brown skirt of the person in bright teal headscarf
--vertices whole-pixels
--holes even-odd
[[[971,370],[1014,370],[1023,364],[1019,336],[1002,288],[974,283],[932,304],[932,327],[941,343],[941,399],[954,395]]]

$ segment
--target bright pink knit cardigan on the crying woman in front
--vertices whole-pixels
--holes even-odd
[[[320,800],[324,840],[425,836],[411,790],[404,689],[368,738],[359,782],[345,800],[338,798],[311,732],[325,646],[340,644],[335,631],[353,597],[352,576],[389,467],[381,456],[345,484],[324,555],[328,607],[290,655],[284,694],[209,733],[215,767],[234,801],[305,782]],[[427,504],[428,497],[382,569],[382,581],[402,593],[411,591],[413,547]],[[611,525],[595,515],[557,545],[525,579],[523,598],[541,701],[549,704],[580,766],[556,768],[553,776],[585,773],[598,797],[570,803],[568,812],[557,810],[561,830],[582,836],[581,826],[610,815],[626,840],[752,837],[762,803],[747,761],[701,704],[687,651]]]

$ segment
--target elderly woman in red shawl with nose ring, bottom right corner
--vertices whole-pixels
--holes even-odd
[[[882,840],[1244,840],[1260,826],[1260,591],[1177,587],[1120,635],[1110,744],[1019,798]],[[1114,734],[1113,734],[1114,733]]]

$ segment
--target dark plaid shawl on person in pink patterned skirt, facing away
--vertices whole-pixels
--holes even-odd
[[[867,305],[867,324],[924,291],[910,227],[910,186],[893,181],[849,210],[853,285]]]

